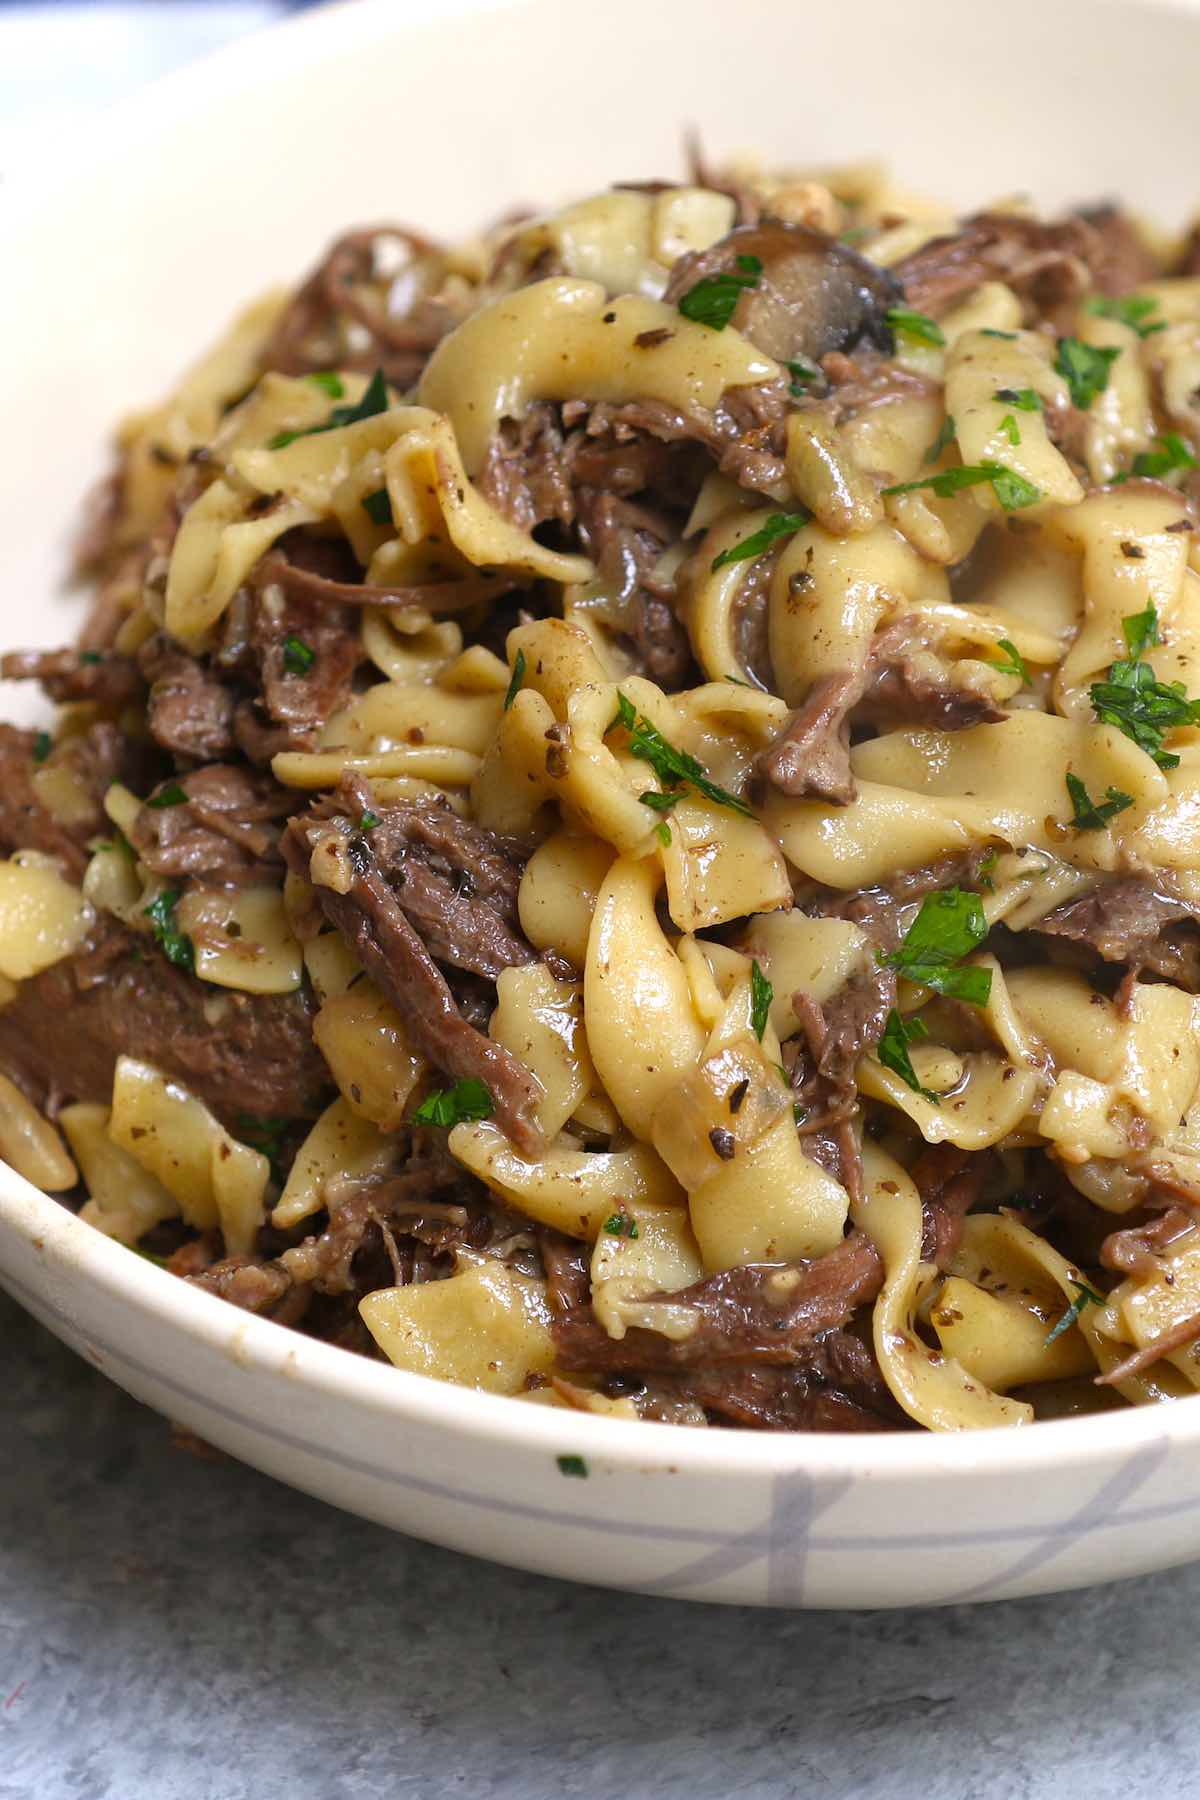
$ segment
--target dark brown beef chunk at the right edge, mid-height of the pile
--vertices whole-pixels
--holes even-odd
[[[1200,905],[1137,875],[1101,882],[1033,927],[1085,945],[1105,963],[1126,963],[1200,994]]]

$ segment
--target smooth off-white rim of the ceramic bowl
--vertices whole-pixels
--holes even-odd
[[[86,166],[95,175],[122,151],[146,142],[178,119],[180,112],[205,106],[212,95],[228,95],[254,83],[264,38],[270,38],[272,67],[286,74],[311,67],[326,43],[336,41],[336,49],[344,52],[383,34],[437,32],[455,16],[527,4],[531,0],[448,0],[430,14],[421,9],[419,0],[335,0],[299,13],[272,23],[268,32],[257,29],[160,76],[140,94],[122,101],[121,108],[108,110],[103,146],[97,146],[95,117],[90,115]],[[1198,0],[1101,4],[1126,13],[1141,9],[1189,16],[1200,45]],[[54,153],[38,158],[36,173],[4,171],[0,212],[5,225],[43,209],[58,187],[72,180],[77,142],[70,131],[61,133]],[[23,1240],[29,1253],[67,1287],[85,1282],[115,1305],[191,1339],[198,1348],[227,1355],[246,1377],[286,1377],[290,1386],[304,1386],[326,1402],[437,1429],[477,1449],[507,1449],[549,1462],[561,1454],[579,1454],[601,1471],[720,1476],[736,1483],[757,1483],[799,1467],[813,1478],[862,1476],[925,1483],[937,1476],[1038,1476],[1065,1462],[1072,1469],[1085,1469],[1114,1456],[1160,1449],[1164,1444],[1200,1444],[1200,1393],[1157,1406],[1040,1420],[1013,1431],[963,1433],[689,1431],[649,1420],[542,1408],[376,1363],[246,1314],[108,1238],[0,1163],[0,1233],[5,1229]],[[70,1323],[68,1305],[41,1289],[27,1287],[4,1267],[0,1287],[9,1287],[18,1301],[25,1294],[41,1310]],[[117,1361],[122,1355],[119,1346],[113,1348]],[[203,1393],[198,1397],[203,1404]],[[318,1442],[317,1435],[315,1440]],[[333,1454],[327,1444],[324,1449]]]

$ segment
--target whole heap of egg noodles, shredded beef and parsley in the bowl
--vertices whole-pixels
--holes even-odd
[[[0,1154],[534,1404],[1200,1386],[1200,243],[874,169],[351,232],[4,727]]]

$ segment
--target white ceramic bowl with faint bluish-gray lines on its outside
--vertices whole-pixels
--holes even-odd
[[[464,16],[470,13],[470,16]],[[712,149],[885,155],[963,205],[1196,198],[1200,14],[1105,0],[534,0],[309,14],[9,171],[0,639],[61,641],[110,421],[340,225],[470,229]],[[43,162],[47,166],[43,166]],[[58,166],[58,167],[54,167]],[[9,715],[29,706],[13,700]],[[0,1283],[149,1406],[351,1512],[525,1568],[774,1606],[1070,1588],[1200,1552],[1200,1399],[963,1436],[633,1426],[236,1312],[0,1170]],[[588,1478],[560,1472],[583,1458]]]

